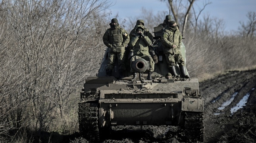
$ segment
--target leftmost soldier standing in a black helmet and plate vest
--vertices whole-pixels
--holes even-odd
[[[115,58],[118,59],[120,78],[124,76],[125,68],[125,46],[129,43],[129,34],[120,27],[118,20],[113,18],[109,24],[110,28],[103,35],[103,43],[109,47],[108,63],[106,73],[111,76],[115,63]]]

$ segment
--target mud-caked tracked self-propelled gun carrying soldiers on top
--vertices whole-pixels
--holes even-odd
[[[181,126],[188,142],[203,142],[203,99],[198,80],[175,76],[166,78],[170,71],[160,41],[162,30],[162,27],[154,28],[152,49],[158,62],[152,73],[153,80],[146,80],[149,63],[143,59],[132,63],[133,69],[139,73],[135,81],[131,81],[133,76],[129,72],[128,59],[124,78],[119,77],[117,62],[112,76],[106,76],[106,50],[99,73],[85,80],[80,95],[78,115],[82,136],[97,142],[110,133],[111,126],[166,125]],[[185,59],[183,43],[181,51]],[[176,71],[180,73],[178,66]]]

